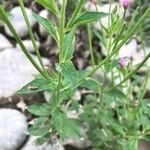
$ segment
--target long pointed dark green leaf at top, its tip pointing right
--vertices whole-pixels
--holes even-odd
[[[108,13],[103,12],[82,12],[80,13],[67,28],[72,28],[78,25],[83,25],[91,22],[98,21],[99,19],[108,16]]]

